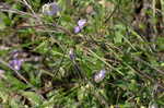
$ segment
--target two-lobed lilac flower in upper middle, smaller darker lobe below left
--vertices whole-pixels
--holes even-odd
[[[86,23],[86,20],[79,20],[78,21],[78,26],[74,27],[74,33],[78,34],[82,31],[82,28],[84,27]]]

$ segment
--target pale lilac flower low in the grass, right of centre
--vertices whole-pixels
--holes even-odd
[[[106,74],[106,70],[101,70],[98,73],[96,73],[96,74],[94,75],[94,81],[95,81],[96,83],[103,81],[103,79],[105,77],[105,74]]]

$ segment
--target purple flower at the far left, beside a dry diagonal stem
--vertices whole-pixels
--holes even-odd
[[[10,61],[10,65],[14,69],[14,70],[20,70],[21,65],[22,65],[22,61],[20,59],[13,59],[12,61]]]

